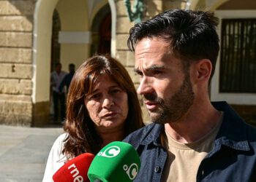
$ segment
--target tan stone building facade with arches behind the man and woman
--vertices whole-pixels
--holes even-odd
[[[144,0],[144,7],[143,20],[167,9],[211,10],[220,20],[256,18],[254,0]],[[61,61],[66,71],[70,62],[78,68],[98,52],[100,40],[110,44],[102,49],[126,66],[138,86],[134,55],[127,49],[132,25],[124,0],[0,0],[0,124],[48,124],[53,63]],[[108,26],[109,33],[100,31]],[[256,92],[219,92],[219,69],[211,83],[211,99],[227,100],[253,124]],[[146,122],[144,107],[143,111]]]

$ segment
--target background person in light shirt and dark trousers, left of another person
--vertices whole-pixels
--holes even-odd
[[[61,84],[64,77],[67,75],[65,71],[61,71],[61,63],[56,63],[55,71],[50,74],[50,85],[52,87],[53,93],[53,120],[54,122],[59,121],[59,106],[61,112],[61,121],[65,119],[66,116],[66,95],[64,89],[59,90],[59,85]]]

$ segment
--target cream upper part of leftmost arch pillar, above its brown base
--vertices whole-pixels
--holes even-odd
[[[50,78],[50,40],[53,10],[59,0],[39,0],[34,12],[33,31],[33,103],[49,100],[48,82]],[[40,90],[40,93],[37,91]],[[44,90],[44,91],[42,91]]]

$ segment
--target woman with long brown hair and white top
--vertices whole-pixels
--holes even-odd
[[[67,96],[65,133],[53,144],[43,181],[67,160],[97,154],[112,141],[122,141],[143,127],[140,103],[132,79],[117,60],[97,55],[75,72]]]

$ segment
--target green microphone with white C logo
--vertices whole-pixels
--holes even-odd
[[[102,148],[89,167],[94,182],[130,182],[140,170],[140,157],[129,143],[114,141]]]

